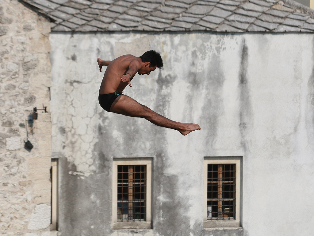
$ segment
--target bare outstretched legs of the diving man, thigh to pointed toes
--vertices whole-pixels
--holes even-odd
[[[171,121],[168,118],[157,114],[147,106],[139,104],[133,98],[130,98],[126,95],[120,95],[111,105],[110,111],[132,117],[142,117],[157,126],[175,129],[182,135],[187,135],[194,130],[201,129],[198,124]]]

